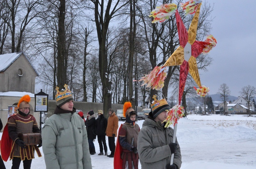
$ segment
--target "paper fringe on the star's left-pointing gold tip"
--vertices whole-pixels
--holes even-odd
[[[145,75],[139,81],[143,80],[144,83],[141,85],[147,84],[147,88],[160,90],[165,86],[164,81],[166,78],[166,67],[156,66],[148,75]]]

